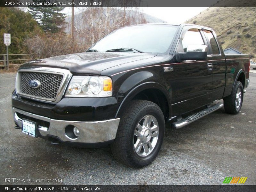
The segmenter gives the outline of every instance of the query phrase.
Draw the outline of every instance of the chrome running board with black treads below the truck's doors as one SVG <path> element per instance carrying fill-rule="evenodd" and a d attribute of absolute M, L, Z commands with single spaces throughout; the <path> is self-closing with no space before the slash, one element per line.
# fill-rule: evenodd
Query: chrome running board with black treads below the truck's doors
<path fill-rule="evenodd" d="M 215 105 L 212 105 L 206 109 L 203 109 L 202 111 L 199 111 L 197 113 L 194 113 L 193 115 L 187 116 L 185 118 L 180 119 L 179 121 L 172 123 L 172 128 L 179 129 L 181 127 L 184 127 L 184 126 L 196 121 L 197 119 L 200 119 L 200 118 L 202 118 L 202 117 L 204 117 L 222 107 L 223 107 L 223 103 L 217 103 Z"/>

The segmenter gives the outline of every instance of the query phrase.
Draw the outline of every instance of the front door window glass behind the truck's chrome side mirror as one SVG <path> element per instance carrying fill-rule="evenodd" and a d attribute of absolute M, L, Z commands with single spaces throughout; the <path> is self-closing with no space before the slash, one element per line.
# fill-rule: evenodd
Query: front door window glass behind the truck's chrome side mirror
<path fill-rule="evenodd" d="M 184 52 L 187 52 L 188 45 L 204 45 L 199 29 L 189 29 L 185 33 L 181 42 Z"/>

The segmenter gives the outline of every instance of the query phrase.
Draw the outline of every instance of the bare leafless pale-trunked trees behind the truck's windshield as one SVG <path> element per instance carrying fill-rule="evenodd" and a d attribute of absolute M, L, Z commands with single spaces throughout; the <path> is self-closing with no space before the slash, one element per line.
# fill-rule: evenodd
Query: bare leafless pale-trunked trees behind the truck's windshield
<path fill-rule="evenodd" d="M 117 28 L 146 23 L 137 8 L 87 7 L 80 10 L 79 16 L 75 22 L 75 38 L 90 45 Z"/>

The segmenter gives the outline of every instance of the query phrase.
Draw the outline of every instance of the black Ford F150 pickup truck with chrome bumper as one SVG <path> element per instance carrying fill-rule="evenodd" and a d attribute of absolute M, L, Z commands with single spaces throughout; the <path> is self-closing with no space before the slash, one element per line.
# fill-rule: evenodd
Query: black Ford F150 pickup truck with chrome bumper
<path fill-rule="evenodd" d="M 12 93 L 15 128 L 53 144 L 110 144 L 118 161 L 140 168 L 157 156 L 165 124 L 178 129 L 223 105 L 237 114 L 249 68 L 248 55 L 224 55 L 211 28 L 120 28 L 84 53 L 22 65 Z"/>

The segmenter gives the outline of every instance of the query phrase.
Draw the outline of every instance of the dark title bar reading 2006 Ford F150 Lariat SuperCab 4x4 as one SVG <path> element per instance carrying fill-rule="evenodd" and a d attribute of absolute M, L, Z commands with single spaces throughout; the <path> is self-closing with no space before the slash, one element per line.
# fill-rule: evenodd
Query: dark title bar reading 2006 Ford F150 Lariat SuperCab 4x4
<path fill-rule="evenodd" d="M 256 0 L 1 0 L 0 7 L 255 7 Z"/>

